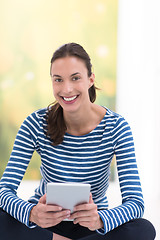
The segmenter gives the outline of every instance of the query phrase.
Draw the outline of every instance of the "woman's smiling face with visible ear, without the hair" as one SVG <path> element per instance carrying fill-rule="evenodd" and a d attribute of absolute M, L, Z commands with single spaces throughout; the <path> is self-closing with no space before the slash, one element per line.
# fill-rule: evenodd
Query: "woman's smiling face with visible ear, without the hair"
<path fill-rule="evenodd" d="M 94 74 L 88 77 L 83 60 L 64 57 L 51 66 L 53 94 L 64 111 L 74 112 L 90 104 L 88 89 L 94 84 Z"/>

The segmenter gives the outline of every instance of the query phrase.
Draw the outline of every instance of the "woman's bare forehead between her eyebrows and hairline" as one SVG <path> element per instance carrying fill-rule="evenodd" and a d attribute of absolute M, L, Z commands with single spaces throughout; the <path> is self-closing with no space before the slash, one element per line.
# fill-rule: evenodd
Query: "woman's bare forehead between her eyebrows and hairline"
<path fill-rule="evenodd" d="M 87 72 L 85 62 L 77 57 L 67 56 L 56 59 L 51 66 L 51 73 Z"/>

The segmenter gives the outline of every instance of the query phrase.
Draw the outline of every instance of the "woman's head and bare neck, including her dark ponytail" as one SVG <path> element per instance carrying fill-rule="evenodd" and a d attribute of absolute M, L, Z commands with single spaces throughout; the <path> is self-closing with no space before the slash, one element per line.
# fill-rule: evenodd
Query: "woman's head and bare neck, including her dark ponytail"
<path fill-rule="evenodd" d="M 55 51 L 51 59 L 50 74 L 53 94 L 57 102 L 48 108 L 47 134 L 53 141 L 52 144 L 58 145 L 63 141 L 66 131 L 75 135 L 90 132 L 102 120 L 105 110 L 99 108 L 100 117 L 98 116 L 98 119 L 96 117 L 96 124 L 91 123 L 87 118 L 87 120 L 81 121 L 81 126 L 78 125 L 78 128 L 74 124 L 75 128 L 73 129 L 73 123 L 71 124 L 67 120 L 71 114 L 74 119 L 74 113 L 77 111 L 81 116 L 87 116 L 86 113 L 90 114 L 90 109 L 94 106 L 92 103 L 96 99 L 95 76 L 92 73 L 91 60 L 79 44 L 65 44 Z M 53 122 L 55 128 L 52 127 Z M 70 125 L 72 128 L 69 127 Z"/>

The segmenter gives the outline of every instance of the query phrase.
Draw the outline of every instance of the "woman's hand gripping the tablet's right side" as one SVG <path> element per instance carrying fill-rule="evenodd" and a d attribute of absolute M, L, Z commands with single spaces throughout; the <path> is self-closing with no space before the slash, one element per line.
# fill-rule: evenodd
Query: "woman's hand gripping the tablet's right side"
<path fill-rule="evenodd" d="M 92 194 L 90 193 L 89 203 L 80 204 L 74 207 L 74 213 L 69 219 L 74 219 L 74 224 L 87 227 L 91 231 L 95 231 L 103 227 L 103 222 L 98 214 L 97 205 L 94 204 Z"/>

